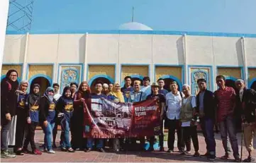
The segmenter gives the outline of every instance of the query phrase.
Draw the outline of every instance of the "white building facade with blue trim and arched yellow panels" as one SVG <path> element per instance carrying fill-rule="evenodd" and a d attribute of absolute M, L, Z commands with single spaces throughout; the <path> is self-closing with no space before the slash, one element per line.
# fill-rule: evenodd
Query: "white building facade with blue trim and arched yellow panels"
<path fill-rule="evenodd" d="M 256 35 L 154 30 L 7 32 L 1 77 L 14 68 L 20 80 L 47 87 L 95 80 L 123 84 L 125 76 L 165 78 L 196 94 L 198 78 L 216 90 L 215 77 L 243 78 L 256 86 Z"/>

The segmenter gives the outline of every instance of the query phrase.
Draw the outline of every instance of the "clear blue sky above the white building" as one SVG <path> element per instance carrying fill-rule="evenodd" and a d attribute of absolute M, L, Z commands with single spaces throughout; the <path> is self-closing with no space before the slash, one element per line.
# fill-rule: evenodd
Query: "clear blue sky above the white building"
<path fill-rule="evenodd" d="M 256 33 L 256 0 L 34 0 L 30 31 L 118 30 L 133 7 L 153 30 Z"/>

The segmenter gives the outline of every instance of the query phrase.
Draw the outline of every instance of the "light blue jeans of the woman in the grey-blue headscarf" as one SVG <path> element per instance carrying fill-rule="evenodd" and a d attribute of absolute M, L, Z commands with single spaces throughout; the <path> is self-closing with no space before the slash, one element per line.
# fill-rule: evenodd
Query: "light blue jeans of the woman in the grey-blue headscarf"
<path fill-rule="evenodd" d="M 45 146 L 47 147 L 48 150 L 52 150 L 52 130 L 55 126 L 55 122 L 49 122 L 48 121 L 48 126 L 45 128 L 43 126 L 43 131 L 45 133 Z"/>

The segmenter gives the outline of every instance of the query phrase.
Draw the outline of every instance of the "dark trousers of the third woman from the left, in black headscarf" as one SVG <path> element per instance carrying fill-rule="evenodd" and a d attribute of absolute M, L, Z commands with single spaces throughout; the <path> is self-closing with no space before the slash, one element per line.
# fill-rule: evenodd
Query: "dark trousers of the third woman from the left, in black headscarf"
<path fill-rule="evenodd" d="M 25 140 L 24 140 L 24 148 L 28 148 L 28 144 L 30 143 L 32 150 L 36 149 L 35 146 L 35 128 L 38 126 L 38 122 L 31 121 L 30 124 L 26 125 L 25 131 Z"/>

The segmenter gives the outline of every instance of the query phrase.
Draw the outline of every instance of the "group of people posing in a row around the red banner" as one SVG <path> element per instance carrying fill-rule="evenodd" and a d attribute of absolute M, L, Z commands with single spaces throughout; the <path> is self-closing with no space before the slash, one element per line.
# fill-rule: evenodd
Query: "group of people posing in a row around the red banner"
<path fill-rule="evenodd" d="M 45 134 L 42 147 L 45 152 L 54 154 L 52 147 L 56 147 L 55 139 L 57 126 L 60 125 L 60 148 L 62 151 L 74 152 L 84 150 L 90 152 L 94 148 L 104 152 L 106 140 L 97 138 L 83 138 L 84 131 L 84 107 L 87 99 L 105 98 L 114 102 L 140 102 L 150 98 L 159 99 L 161 113 L 160 121 L 168 128 L 168 150 L 174 152 L 175 133 L 177 133 L 177 147 L 181 155 L 189 155 L 191 152 L 191 140 L 194 145 L 194 157 L 216 158 L 216 141 L 214 128 L 220 128 L 221 139 L 225 155 L 221 159 L 230 157 L 230 147 L 233 150 L 235 162 L 240 162 L 238 139 L 235 131 L 235 120 L 242 119 L 243 132 L 245 135 L 245 147 L 249 153 L 245 162 L 252 162 L 252 137 L 255 134 L 255 109 L 256 92 L 245 87 L 243 80 L 236 80 L 236 90 L 227 87 L 224 76 L 216 76 L 218 90 L 207 90 L 207 82 L 204 78 L 197 80 L 199 93 L 191 95 L 191 87 L 183 85 L 179 92 L 177 82 L 170 83 L 168 90 L 164 89 L 165 80 L 160 78 L 157 83 L 150 85 L 150 78 L 143 78 L 132 82 L 130 76 L 126 76 L 125 85 L 119 83 L 101 83 L 96 81 L 95 91 L 91 92 L 86 81 L 79 87 L 77 83 L 70 83 L 58 93 L 59 85 L 54 83 L 48 87 L 43 95 L 40 95 L 40 85 L 32 85 L 28 94 L 29 83 L 21 81 L 18 85 L 18 73 L 10 70 L 6 78 L 1 82 L 1 157 L 16 157 L 25 153 L 41 155 L 35 145 L 35 128 L 40 125 Z M 142 84 L 142 85 L 141 85 Z M 133 85 L 133 86 L 132 86 Z M 78 88 L 78 89 L 77 89 Z M 201 126 L 206 141 L 207 152 L 199 153 L 199 140 L 197 125 Z M 69 141 L 69 132 L 71 141 Z M 13 133 L 15 136 L 11 136 Z M 147 136 L 147 135 L 145 135 Z M 53 137 L 53 143 L 52 143 Z M 154 150 L 155 136 L 147 137 L 150 141 L 148 151 Z M 14 152 L 9 152 L 8 145 L 13 139 Z M 140 140 L 139 149 L 145 150 L 145 137 L 141 138 L 114 138 L 108 140 L 111 149 L 135 150 L 137 140 Z M 159 135 L 160 152 L 164 152 L 164 133 Z M 28 150 L 30 143 L 32 151 Z M 137 148 L 138 149 L 138 148 Z"/>

